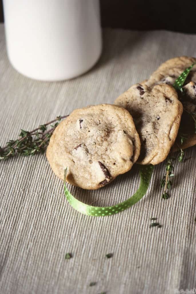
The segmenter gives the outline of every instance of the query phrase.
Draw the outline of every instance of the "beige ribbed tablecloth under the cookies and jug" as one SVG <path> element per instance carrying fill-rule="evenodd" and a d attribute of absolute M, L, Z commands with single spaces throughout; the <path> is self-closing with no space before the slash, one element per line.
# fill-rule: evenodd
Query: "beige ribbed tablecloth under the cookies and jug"
<path fill-rule="evenodd" d="M 196 35 L 167 31 L 103 31 L 103 54 L 88 73 L 39 82 L 16 72 L 0 26 L 0 144 L 89 104 L 113 103 L 161 62 L 196 56 Z M 175 293 L 196 288 L 196 146 L 175 164 L 171 198 L 162 200 L 164 164 L 154 168 L 146 196 L 109 217 L 75 211 L 45 155 L 0 162 L 0 293 Z M 68 185 L 94 205 L 123 201 L 137 190 L 137 168 L 98 191 Z M 161 228 L 149 225 L 156 217 Z M 70 260 L 65 254 L 73 255 Z M 107 259 L 105 254 L 113 253 Z M 90 287 L 89 283 L 97 282 Z"/>

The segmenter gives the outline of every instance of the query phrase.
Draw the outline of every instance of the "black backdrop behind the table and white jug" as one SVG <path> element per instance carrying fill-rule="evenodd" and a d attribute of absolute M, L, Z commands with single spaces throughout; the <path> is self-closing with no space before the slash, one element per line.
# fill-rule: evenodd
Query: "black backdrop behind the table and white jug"
<path fill-rule="evenodd" d="M 196 33 L 196 0 L 100 0 L 100 6 L 103 27 Z M 0 22 L 3 22 L 2 0 Z"/>

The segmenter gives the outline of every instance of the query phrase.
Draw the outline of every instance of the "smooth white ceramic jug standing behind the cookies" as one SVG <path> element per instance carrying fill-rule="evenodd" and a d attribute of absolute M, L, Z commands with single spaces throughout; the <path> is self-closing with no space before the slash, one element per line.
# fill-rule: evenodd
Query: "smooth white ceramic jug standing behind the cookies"
<path fill-rule="evenodd" d="M 60 81 L 98 60 L 99 0 L 4 0 L 3 6 L 8 58 L 21 74 Z"/>

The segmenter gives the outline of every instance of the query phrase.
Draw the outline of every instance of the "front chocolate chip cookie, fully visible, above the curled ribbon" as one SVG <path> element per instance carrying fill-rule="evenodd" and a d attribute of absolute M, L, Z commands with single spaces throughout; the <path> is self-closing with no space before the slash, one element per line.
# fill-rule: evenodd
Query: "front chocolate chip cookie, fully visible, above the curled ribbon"
<path fill-rule="evenodd" d="M 59 123 L 46 156 L 54 173 L 83 189 L 98 189 L 132 168 L 140 140 L 132 116 L 119 106 L 101 104 L 74 110 Z"/>

